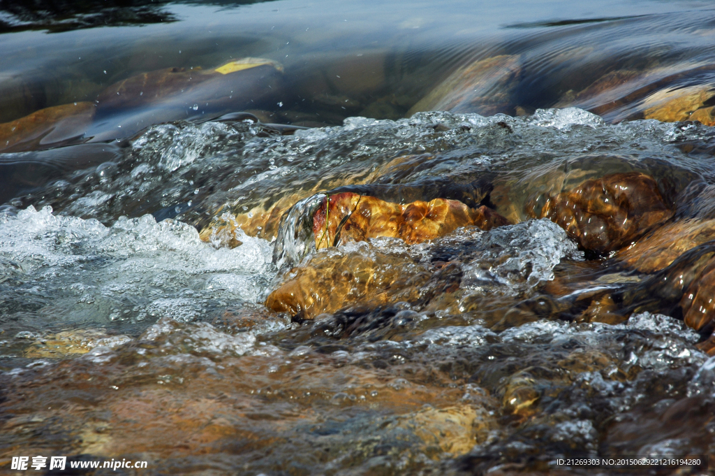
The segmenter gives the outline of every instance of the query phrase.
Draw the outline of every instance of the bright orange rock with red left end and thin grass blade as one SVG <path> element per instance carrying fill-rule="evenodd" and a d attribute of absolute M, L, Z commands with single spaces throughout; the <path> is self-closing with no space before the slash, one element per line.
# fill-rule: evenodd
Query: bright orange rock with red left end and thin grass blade
<path fill-rule="evenodd" d="M 325 198 L 313 215 L 317 249 L 378 237 L 421 243 L 461 226 L 476 225 L 489 230 L 507 224 L 506 218 L 484 205 L 473 209 L 443 198 L 401 205 L 350 192 Z"/>

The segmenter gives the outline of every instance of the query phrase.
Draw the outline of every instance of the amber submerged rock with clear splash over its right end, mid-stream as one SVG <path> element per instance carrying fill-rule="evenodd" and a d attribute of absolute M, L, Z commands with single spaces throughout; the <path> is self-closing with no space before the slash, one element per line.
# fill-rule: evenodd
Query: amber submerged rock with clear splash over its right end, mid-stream
<path fill-rule="evenodd" d="M 495 298 L 501 308 L 494 313 L 495 321 L 511 306 L 518 309 L 509 319 L 521 313 L 535 320 L 546 313 L 543 300 L 518 301 L 551 281 L 553 267 L 563 258 L 581 257 L 575 243 L 548 220 L 488 233 L 475 226 L 458 228 L 411 247 L 394 238 L 371 239 L 318 251 L 277 281 L 266 306 L 301 319 L 348 306 L 369 312 L 398 302 L 417 310 L 461 314 L 482 310 L 488 307 L 484 301 Z M 530 309 L 532 304 L 537 309 Z"/>

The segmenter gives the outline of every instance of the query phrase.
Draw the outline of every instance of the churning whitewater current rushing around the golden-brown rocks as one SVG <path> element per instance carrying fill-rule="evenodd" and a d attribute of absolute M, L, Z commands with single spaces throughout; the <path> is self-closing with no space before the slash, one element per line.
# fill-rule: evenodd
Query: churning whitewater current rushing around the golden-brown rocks
<path fill-rule="evenodd" d="M 567 454 L 712 453 L 705 417 L 662 430 L 674 421 L 667 411 L 676 402 L 709 409 L 715 398 L 713 358 L 695 347 L 699 334 L 682 321 L 641 312 L 622 324 L 495 326 L 479 314 L 480 299 L 538 301 L 559 269 L 589 266 L 591 258 L 550 220 L 517 210 L 520 223 L 488 231 L 320 251 L 298 233 L 300 217 L 277 230 L 254 223 L 207 241 L 199 232 L 222 214 L 253 223 L 253 214 L 280 200 L 298 217 L 305 210 L 293 204 L 347 185 L 381 185 L 407 201 L 437 179 L 489 175 L 509 185 L 511 195 L 492 199 L 504 208 L 556 175 L 568 184 L 647 171 L 676 188 L 696 175 L 711 183 L 713 135 L 693 123 L 608 125 L 577 109 L 353 117 L 293 135 L 248 120 L 151 127 L 116 161 L 69 173 L 1 211 L 2 395 L 15 419 L 49 407 L 36 423 L 12 420 L 4 438 L 34 447 L 21 428 L 44 435 L 59 431 L 52 418 L 77 418 L 46 448 L 141 454 L 162 470 L 192 474 L 461 474 L 515 460 L 548 465 Z M 406 156 L 422 158 L 388 167 Z M 231 240 L 240 246 L 227 246 Z M 455 250 L 467 258 L 454 303 L 394 301 L 365 311 L 363 321 L 341 309 L 311 324 L 263 305 L 287 272 L 277 246 L 292 266 L 358 256 L 377 273 L 403 266 L 404 276 L 422 276 Z M 593 271 L 568 296 L 642 278 L 618 273 Z M 84 350 L 62 350 L 67 342 Z M 77 407 L 53 407 L 73 388 L 84 392 Z M 59 393 L 47 397 L 50 389 Z M 136 418 L 128 416 L 134 401 Z M 157 442 L 163 423 L 154 427 L 149 415 L 163 421 L 168 414 L 197 435 L 182 443 L 188 456 Z M 103 418 L 109 423 L 100 432 Z M 212 429 L 196 423 L 202 419 Z M 651 431 L 632 437 L 628 422 Z M 144 449 L 133 446 L 132 434 Z"/>

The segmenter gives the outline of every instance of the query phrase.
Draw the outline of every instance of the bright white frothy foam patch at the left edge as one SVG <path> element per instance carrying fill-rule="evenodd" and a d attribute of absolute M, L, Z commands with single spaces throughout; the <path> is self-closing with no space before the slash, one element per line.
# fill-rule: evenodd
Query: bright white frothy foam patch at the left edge
<path fill-rule="evenodd" d="M 212 302 L 257 302 L 275 274 L 270 243 L 216 249 L 197 230 L 152 215 L 97 220 L 27 208 L 0 221 L 0 263 L 19 266 L 52 304 L 87 319 L 193 321 Z M 15 263 L 13 265 L 12 263 Z M 19 271 L 18 271 L 19 272 Z M 9 271 L 4 274 L 9 274 Z"/>

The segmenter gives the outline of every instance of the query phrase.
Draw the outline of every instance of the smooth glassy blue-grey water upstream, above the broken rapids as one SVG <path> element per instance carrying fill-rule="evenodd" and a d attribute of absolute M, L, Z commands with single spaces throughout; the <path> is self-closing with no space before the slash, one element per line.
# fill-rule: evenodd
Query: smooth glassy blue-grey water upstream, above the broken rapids
<path fill-rule="evenodd" d="M 696 117 L 711 122 L 711 11 L 698 6 L 604 5 L 603 11 L 623 15 L 603 18 L 578 6 L 558 11 L 550 4 L 530 9 L 518 2 L 503 7 L 453 2 L 447 9 L 440 6 L 439 14 L 429 4 L 413 4 L 408 14 L 396 4 L 362 9 L 298 1 L 240 8 L 170 4 L 160 8 L 178 20 L 173 23 L 5 34 L 0 120 L 94 103 L 97 117 L 83 112 L 86 121 L 65 125 L 55 137 L 45 137 L 44 146 L 129 137 L 153 123 L 237 110 L 253 110 L 269 122 L 306 125 L 339 125 L 355 115 L 398 119 L 435 108 L 514 115 L 553 106 L 581 107 L 609 122 L 685 120 L 701 109 Z M 665 13 L 673 9 L 678 13 Z M 573 16 L 546 21 L 567 14 Z M 545 21 L 534 22 L 535 16 Z M 45 49 L 53 54 L 41 54 Z M 199 67 L 207 72 L 245 57 L 277 62 L 285 74 L 269 82 L 261 81 L 261 74 L 227 75 L 208 91 L 164 78 Z M 125 81 L 142 82 L 146 90 L 136 94 L 171 92 L 177 110 L 168 114 L 158 103 L 134 110 L 135 91 L 122 90 Z M 687 104 L 669 102 L 678 97 Z M 207 98 L 223 100 L 211 104 Z M 133 112 L 127 114 L 127 108 Z M 39 121 L 54 123 L 77 113 L 77 106 L 70 109 Z M 0 127 L 3 148 L 11 147 L 10 132 Z"/>

